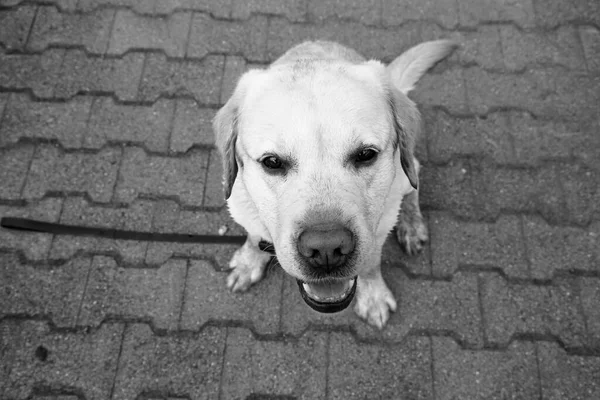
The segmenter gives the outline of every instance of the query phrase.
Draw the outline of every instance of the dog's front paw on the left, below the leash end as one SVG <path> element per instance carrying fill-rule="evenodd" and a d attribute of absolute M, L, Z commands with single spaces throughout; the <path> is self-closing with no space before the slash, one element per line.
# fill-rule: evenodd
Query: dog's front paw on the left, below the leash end
<path fill-rule="evenodd" d="M 243 292 L 262 279 L 271 255 L 260 250 L 260 237 L 248 235 L 246 243 L 231 258 L 232 271 L 227 277 L 227 287 L 233 292 Z"/>

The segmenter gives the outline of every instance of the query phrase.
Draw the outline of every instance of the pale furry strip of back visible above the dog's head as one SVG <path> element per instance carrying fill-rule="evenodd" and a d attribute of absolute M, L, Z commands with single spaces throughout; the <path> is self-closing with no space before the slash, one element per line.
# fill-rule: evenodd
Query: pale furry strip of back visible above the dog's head
<path fill-rule="evenodd" d="M 337 61 L 358 64 L 366 59 L 349 47 L 325 40 L 300 43 L 279 57 L 272 65 L 296 63 L 301 60 Z"/>

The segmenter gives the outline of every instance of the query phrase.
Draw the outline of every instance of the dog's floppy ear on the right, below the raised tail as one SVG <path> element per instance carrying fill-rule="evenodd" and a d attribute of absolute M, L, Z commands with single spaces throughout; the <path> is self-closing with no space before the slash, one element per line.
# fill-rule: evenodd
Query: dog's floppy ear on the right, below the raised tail
<path fill-rule="evenodd" d="M 421 131 L 421 116 L 415 103 L 400 91 L 392 88 L 388 94 L 400 164 L 408 181 L 415 189 L 419 187 L 419 171 L 415 166 L 415 141 Z"/>

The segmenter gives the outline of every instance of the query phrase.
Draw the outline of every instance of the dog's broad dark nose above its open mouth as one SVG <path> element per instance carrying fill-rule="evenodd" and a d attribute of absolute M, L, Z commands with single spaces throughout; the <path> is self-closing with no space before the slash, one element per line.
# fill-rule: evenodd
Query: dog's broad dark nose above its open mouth
<path fill-rule="evenodd" d="M 298 238 L 298 252 L 311 265 L 332 269 L 342 265 L 354 250 L 354 236 L 343 226 L 314 226 Z"/>

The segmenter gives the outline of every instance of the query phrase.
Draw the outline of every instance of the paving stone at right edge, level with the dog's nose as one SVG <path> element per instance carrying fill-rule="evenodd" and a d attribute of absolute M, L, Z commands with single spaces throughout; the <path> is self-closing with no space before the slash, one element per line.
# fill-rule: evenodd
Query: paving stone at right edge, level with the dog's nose
<path fill-rule="evenodd" d="M 558 271 L 600 272 L 600 224 L 587 229 L 552 226 L 539 217 L 523 221 L 532 278 L 552 279 Z"/>

